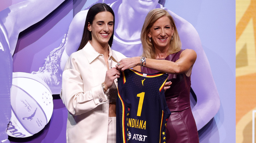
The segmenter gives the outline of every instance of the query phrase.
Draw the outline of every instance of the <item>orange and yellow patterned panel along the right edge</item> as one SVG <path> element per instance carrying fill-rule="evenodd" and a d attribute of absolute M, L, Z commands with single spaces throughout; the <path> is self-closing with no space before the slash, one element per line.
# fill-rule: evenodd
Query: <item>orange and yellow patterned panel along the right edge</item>
<path fill-rule="evenodd" d="M 256 1 L 236 0 L 236 142 L 255 143 Z"/>

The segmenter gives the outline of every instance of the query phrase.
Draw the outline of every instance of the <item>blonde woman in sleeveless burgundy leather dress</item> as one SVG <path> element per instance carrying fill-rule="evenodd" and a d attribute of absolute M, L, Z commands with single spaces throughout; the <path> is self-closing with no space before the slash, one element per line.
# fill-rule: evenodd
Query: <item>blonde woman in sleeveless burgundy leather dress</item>
<path fill-rule="evenodd" d="M 168 11 L 157 8 L 145 18 L 141 31 L 143 54 L 125 58 L 116 67 L 134 67 L 143 73 L 166 72 L 165 97 L 172 112 L 167 122 L 167 143 L 198 143 L 198 132 L 190 107 L 190 77 L 196 52 L 181 49 L 176 25 Z"/>

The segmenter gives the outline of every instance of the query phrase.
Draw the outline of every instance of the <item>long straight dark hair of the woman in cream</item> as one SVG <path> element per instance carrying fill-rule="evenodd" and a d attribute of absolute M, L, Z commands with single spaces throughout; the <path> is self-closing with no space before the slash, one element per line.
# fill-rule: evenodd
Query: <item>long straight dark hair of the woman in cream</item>
<path fill-rule="evenodd" d="M 88 23 L 92 24 L 95 15 L 98 14 L 99 12 L 103 12 L 103 11 L 108 11 L 108 12 L 112 13 L 112 15 L 114 17 L 113 34 L 112 34 L 112 36 L 110 37 L 110 39 L 108 41 L 108 44 L 110 46 L 112 45 L 113 37 L 114 37 L 114 28 L 115 28 L 114 27 L 115 26 L 115 14 L 114 14 L 114 11 L 112 10 L 112 8 L 110 6 L 108 6 L 105 3 L 97 3 L 97 4 L 93 5 L 88 10 L 88 13 L 87 13 L 87 16 L 86 16 L 86 20 L 85 20 L 85 24 L 84 24 L 84 32 L 83 32 L 82 40 L 80 42 L 80 45 L 79 45 L 77 51 L 83 49 L 83 47 L 87 44 L 87 42 L 89 40 L 92 40 L 92 33 L 87 29 Z"/>

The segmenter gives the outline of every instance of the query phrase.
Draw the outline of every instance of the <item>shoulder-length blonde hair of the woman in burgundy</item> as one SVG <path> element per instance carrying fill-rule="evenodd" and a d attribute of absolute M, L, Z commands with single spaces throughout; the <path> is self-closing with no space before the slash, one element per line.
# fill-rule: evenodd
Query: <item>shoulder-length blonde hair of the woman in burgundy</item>
<path fill-rule="evenodd" d="M 173 40 L 170 41 L 170 46 L 167 55 L 177 53 L 181 50 L 181 40 L 174 19 L 172 18 L 168 11 L 161 8 L 156 8 L 151 10 L 147 14 L 141 30 L 140 40 L 143 47 L 142 56 L 152 59 L 156 58 L 155 47 L 153 42 L 149 41 L 148 33 L 150 32 L 150 28 L 153 26 L 153 24 L 163 16 L 167 16 L 171 21 L 171 28 L 174 27 Z"/>

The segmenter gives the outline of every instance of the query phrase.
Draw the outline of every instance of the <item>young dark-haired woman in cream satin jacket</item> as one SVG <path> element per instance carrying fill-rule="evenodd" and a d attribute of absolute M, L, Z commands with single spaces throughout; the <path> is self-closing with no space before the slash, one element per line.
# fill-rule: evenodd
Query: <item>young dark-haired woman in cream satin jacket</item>
<path fill-rule="evenodd" d="M 87 14 L 78 51 L 62 74 L 60 97 L 69 111 L 67 142 L 115 143 L 117 78 L 115 67 L 125 58 L 111 50 L 115 15 L 104 3 Z"/>

